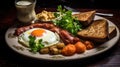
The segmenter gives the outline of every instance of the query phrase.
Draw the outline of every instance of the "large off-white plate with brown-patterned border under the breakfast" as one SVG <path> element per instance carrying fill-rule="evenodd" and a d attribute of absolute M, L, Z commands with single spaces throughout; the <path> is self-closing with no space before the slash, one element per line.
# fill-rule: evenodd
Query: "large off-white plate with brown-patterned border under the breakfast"
<path fill-rule="evenodd" d="M 105 19 L 103 17 L 100 16 L 95 16 L 95 20 L 96 19 Z M 22 46 L 21 44 L 18 43 L 18 38 L 17 37 L 9 37 L 9 35 L 13 34 L 15 31 L 15 27 L 10 27 L 5 34 L 5 39 L 6 42 L 8 44 L 8 46 L 13 49 L 14 51 L 16 51 L 19 54 L 31 57 L 31 58 L 36 58 L 36 59 L 44 59 L 44 60 L 72 60 L 72 59 L 81 59 L 81 58 L 87 58 L 90 56 L 94 56 L 97 54 L 100 54 L 102 52 L 107 51 L 108 49 L 110 49 L 111 47 L 113 47 L 116 42 L 119 40 L 119 29 L 117 28 L 117 26 L 115 24 L 113 24 L 111 21 L 107 20 L 109 23 L 109 26 L 115 26 L 116 30 L 117 30 L 117 34 L 115 37 L 113 37 L 111 40 L 101 44 L 99 47 L 96 47 L 94 49 L 91 50 L 87 50 L 86 52 L 82 53 L 82 54 L 75 54 L 73 56 L 63 56 L 63 55 L 49 55 L 49 54 L 33 54 L 31 52 L 28 51 L 28 49 L 24 46 Z M 16 48 L 16 46 L 20 46 L 20 48 Z M 22 47 L 22 48 L 21 48 Z"/>

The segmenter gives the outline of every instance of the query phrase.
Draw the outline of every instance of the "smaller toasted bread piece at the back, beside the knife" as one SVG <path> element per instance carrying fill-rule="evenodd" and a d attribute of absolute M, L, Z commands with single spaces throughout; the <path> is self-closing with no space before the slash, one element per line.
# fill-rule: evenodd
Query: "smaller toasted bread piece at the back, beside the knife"
<path fill-rule="evenodd" d="M 83 24 L 83 26 L 88 26 L 94 19 L 96 11 L 87 11 L 87 12 L 80 12 L 79 14 L 73 14 L 74 17 Z"/>

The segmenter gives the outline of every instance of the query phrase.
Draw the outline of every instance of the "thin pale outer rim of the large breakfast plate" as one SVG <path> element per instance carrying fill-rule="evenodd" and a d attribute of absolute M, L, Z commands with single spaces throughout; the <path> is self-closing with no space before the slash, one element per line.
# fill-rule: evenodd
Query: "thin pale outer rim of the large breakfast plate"
<path fill-rule="evenodd" d="M 97 15 L 95 15 L 95 17 L 99 17 L 99 18 L 106 19 L 106 18 L 104 18 L 104 17 L 97 16 Z M 51 59 L 48 59 L 48 58 L 39 58 L 39 57 L 29 56 L 29 55 L 26 55 L 26 54 L 24 54 L 24 53 L 20 53 L 18 50 L 15 50 L 13 47 L 11 47 L 10 44 L 7 42 L 8 30 L 9 30 L 11 27 L 8 28 L 8 30 L 7 30 L 6 33 L 5 33 L 5 41 L 6 41 L 7 45 L 8 45 L 13 51 L 15 51 L 16 53 L 19 53 L 19 54 L 21 54 L 21 55 L 30 57 L 30 58 L 35 58 L 35 59 L 39 59 L 39 60 L 50 60 L 50 61 L 61 61 L 61 60 L 63 61 L 63 60 L 83 59 L 83 58 L 87 58 L 87 57 L 91 57 L 91 56 L 95 56 L 95 55 L 101 54 L 101 53 L 109 50 L 110 48 L 112 48 L 112 47 L 118 42 L 119 37 L 120 37 L 120 32 L 119 32 L 118 27 L 117 27 L 113 22 L 111 22 L 110 20 L 108 20 L 108 19 L 106 19 L 106 20 L 108 21 L 108 23 L 112 23 L 112 24 L 116 27 L 117 33 L 116 33 L 116 36 L 115 36 L 115 37 L 117 38 L 117 40 L 116 40 L 116 41 L 114 42 L 114 44 L 111 45 L 110 47 L 108 47 L 108 48 L 106 48 L 106 49 L 104 49 L 104 50 L 102 50 L 102 51 L 99 51 L 99 52 L 97 52 L 97 53 L 89 54 L 89 55 L 84 56 L 84 57 L 76 57 L 76 58 L 68 58 L 68 59 L 67 59 L 67 58 L 58 58 L 58 59 L 53 59 L 53 58 L 51 58 Z M 107 41 L 107 42 L 108 42 L 108 41 Z M 103 45 L 103 44 L 102 44 L 102 45 Z M 59 56 L 59 55 L 57 55 L 57 56 Z M 65 56 L 65 57 L 71 57 L 71 56 Z"/>

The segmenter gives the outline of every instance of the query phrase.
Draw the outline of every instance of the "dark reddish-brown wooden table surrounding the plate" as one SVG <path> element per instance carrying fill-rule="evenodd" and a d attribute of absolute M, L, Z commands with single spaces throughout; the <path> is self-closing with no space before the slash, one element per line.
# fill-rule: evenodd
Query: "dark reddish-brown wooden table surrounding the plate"
<path fill-rule="evenodd" d="M 40 12 L 45 8 L 37 8 L 36 12 Z M 76 8 L 79 11 L 89 11 L 96 10 L 97 12 L 102 13 L 113 13 L 113 17 L 105 17 L 108 20 L 112 21 L 120 29 L 120 10 L 117 9 L 80 9 Z M 48 11 L 56 11 L 55 8 L 46 8 Z M 43 66 L 43 65 L 53 65 L 55 66 L 64 66 L 64 65 L 78 65 L 80 67 L 120 67 L 120 40 L 108 51 L 103 52 L 102 54 L 92 56 L 85 59 L 71 60 L 71 61 L 44 61 L 29 58 L 23 55 L 20 55 L 13 50 L 11 50 L 5 42 L 5 32 L 6 30 L 14 24 L 16 20 L 16 10 L 10 9 L 7 11 L 0 12 L 0 67 L 22 67 L 22 66 Z"/>

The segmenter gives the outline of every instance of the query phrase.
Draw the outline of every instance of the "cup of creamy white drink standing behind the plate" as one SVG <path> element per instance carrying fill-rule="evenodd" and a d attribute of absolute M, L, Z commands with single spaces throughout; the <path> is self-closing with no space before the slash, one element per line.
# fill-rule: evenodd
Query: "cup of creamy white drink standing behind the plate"
<path fill-rule="evenodd" d="M 23 23 L 29 23 L 36 19 L 36 0 L 15 0 L 17 19 Z"/>

